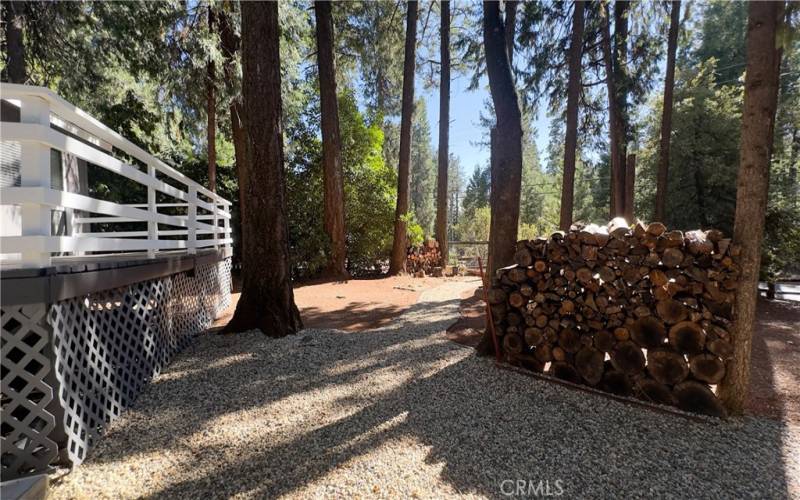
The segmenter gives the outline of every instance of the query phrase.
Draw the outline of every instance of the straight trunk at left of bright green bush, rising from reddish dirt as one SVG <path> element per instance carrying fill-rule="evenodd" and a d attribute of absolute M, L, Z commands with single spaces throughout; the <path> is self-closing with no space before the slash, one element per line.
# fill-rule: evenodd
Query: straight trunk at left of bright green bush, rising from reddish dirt
<path fill-rule="evenodd" d="M 339 136 L 339 105 L 336 101 L 336 61 L 333 53 L 331 2 L 314 2 L 317 21 L 317 66 L 322 114 L 322 166 L 325 191 L 325 233 L 330 239 L 326 275 L 350 277 L 345 267 L 347 247 L 344 230 L 344 177 L 342 140 Z"/>

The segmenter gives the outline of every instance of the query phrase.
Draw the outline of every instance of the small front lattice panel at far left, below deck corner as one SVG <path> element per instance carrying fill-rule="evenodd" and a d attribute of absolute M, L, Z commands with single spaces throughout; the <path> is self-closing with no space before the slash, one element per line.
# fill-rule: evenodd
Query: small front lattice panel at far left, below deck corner
<path fill-rule="evenodd" d="M 49 437 L 56 419 L 48 411 L 53 389 L 45 380 L 52 366 L 45 315 L 44 304 L 0 310 L 3 480 L 44 470 L 58 454 Z"/>

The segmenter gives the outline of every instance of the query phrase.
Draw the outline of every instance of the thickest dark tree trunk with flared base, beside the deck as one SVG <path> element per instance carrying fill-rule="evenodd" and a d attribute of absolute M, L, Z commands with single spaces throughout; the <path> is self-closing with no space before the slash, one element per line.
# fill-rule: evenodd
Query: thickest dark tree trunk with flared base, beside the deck
<path fill-rule="evenodd" d="M 254 328 L 279 337 L 303 325 L 289 264 L 281 130 L 278 4 L 242 2 L 242 96 L 248 183 L 242 204 L 249 236 L 242 251 L 242 295 L 224 332 Z"/>

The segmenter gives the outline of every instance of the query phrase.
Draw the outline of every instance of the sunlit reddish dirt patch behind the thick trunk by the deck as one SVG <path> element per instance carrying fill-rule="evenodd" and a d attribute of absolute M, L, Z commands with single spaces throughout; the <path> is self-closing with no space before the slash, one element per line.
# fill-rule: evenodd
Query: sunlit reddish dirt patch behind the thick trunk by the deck
<path fill-rule="evenodd" d="M 343 282 L 299 283 L 294 298 L 306 328 L 335 328 L 359 331 L 386 325 L 416 304 L 420 294 L 448 278 L 393 276 L 353 279 Z M 234 282 L 231 306 L 214 327 L 230 321 L 239 300 L 238 280 Z"/>

